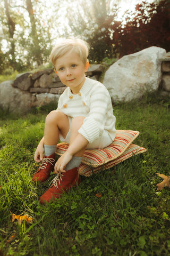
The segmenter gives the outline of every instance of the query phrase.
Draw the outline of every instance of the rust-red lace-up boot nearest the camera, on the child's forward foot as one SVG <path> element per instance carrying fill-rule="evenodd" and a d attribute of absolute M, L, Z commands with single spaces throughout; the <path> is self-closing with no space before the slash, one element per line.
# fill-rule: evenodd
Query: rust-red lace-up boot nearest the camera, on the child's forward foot
<path fill-rule="evenodd" d="M 41 204 L 45 204 L 62 196 L 63 191 L 76 187 L 81 182 L 78 167 L 74 167 L 64 173 L 58 173 L 53 179 L 50 188 L 39 198 Z"/>

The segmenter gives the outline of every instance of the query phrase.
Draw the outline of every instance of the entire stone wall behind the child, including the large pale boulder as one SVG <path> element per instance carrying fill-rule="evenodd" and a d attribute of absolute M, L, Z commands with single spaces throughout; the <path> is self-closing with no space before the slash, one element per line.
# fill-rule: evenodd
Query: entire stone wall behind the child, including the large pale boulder
<path fill-rule="evenodd" d="M 90 65 L 87 77 L 99 80 L 102 65 Z M 162 81 L 162 82 L 160 82 Z M 170 53 L 151 46 L 140 52 L 126 55 L 106 71 L 104 85 L 113 103 L 139 99 L 147 91 L 156 91 L 162 84 L 162 95 L 170 97 Z M 65 90 L 53 69 L 24 73 L 14 81 L 0 84 L 0 108 L 10 113 L 25 114 L 32 107 L 57 102 Z"/>

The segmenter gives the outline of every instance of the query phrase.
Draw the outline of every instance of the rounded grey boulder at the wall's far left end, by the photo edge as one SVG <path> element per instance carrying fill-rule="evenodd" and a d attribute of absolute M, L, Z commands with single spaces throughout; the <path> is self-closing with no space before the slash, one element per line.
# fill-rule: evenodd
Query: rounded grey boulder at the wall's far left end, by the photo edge
<path fill-rule="evenodd" d="M 0 107 L 10 113 L 27 113 L 36 100 L 29 92 L 21 91 L 13 87 L 13 81 L 5 81 L 0 84 Z"/>

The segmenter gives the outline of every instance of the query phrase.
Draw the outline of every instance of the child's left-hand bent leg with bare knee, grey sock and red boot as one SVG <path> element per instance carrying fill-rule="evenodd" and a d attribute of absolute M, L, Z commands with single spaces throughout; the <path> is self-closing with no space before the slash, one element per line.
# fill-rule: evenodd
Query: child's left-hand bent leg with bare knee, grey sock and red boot
<path fill-rule="evenodd" d="M 59 133 L 65 138 L 69 131 L 69 126 L 69 118 L 60 111 L 54 110 L 46 117 L 44 132 L 45 157 L 37 172 L 33 175 L 33 181 L 44 182 L 49 178 L 50 172 L 54 170 L 55 151 Z"/>

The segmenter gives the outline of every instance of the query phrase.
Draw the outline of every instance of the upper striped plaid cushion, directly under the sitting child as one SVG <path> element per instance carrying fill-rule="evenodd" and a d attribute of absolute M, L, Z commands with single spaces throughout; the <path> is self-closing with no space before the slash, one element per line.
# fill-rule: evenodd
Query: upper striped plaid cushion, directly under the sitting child
<path fill-rule="evenodd" d="M 92 167 L 98 167 L 121 156 L 139 135 L 138 131 L 117 130 L 114 141 L 103 149 L 87 149 L 84 152 L 81 163 Z M 63 155 L 68 148 L 67 143 L 57 144 L 57 155 Z"/>

